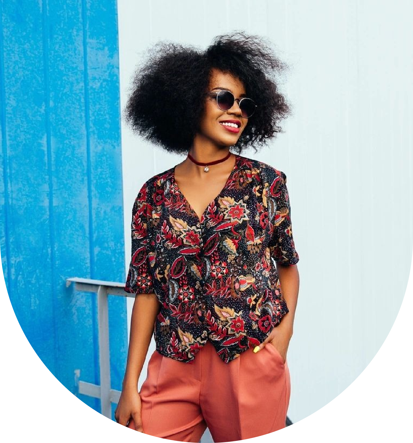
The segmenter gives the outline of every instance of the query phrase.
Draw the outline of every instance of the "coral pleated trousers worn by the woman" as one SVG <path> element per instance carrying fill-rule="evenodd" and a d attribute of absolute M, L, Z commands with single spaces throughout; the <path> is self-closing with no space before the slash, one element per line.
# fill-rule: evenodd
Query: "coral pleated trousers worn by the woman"
<path fill-rule="evenodd" d="M 285 427 L 290 374 L 271 343 L 225 363 L 208 341 L 188 363 L 155 350 L 140 398 L 144 434 L 197 443 L 208 427 L 215 443 L 233 442 Z"/>

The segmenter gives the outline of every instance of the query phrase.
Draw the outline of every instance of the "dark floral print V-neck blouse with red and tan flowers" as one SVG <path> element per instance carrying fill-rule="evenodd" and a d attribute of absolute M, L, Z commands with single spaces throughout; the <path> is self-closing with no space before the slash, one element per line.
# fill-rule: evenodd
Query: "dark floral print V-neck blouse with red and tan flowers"
<path fill-rule="evenodd" d="M 133 205 L 125 291 L 155 293 L 156 350 L 178 361 L 191 362 L 210 340 L 229 363 L 288 312 L 273 262 L 299 260 L 286 176 L 234 155 L 233 171 L 201 219 L 179 190 L 175 167 L 148 179 Z"/>

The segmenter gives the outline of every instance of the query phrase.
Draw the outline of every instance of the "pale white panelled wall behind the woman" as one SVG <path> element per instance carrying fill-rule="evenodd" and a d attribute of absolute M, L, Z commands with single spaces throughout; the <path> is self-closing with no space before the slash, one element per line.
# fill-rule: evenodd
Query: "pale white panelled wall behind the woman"
<path fill-rule="evenodd" d="M 204 49 L 215 35 L 244 30 L 269 38 L 291 67 L 281 86 L 294 108 L 285 133 L 242 155 L 288 177 L 301 277 L 288 350 L 288 416 L 296 423 L 362 373 L 405 294 L 413 245 L 412 4 L 118 0 L 118 12 L 122 109 L 140 52 L 159 40 Z M 184 157 L 152 147 L 124 123 L 122 155 L 128 266 L 137 191 Z M 140 383 L 144 377 L 146 369 Z"/>

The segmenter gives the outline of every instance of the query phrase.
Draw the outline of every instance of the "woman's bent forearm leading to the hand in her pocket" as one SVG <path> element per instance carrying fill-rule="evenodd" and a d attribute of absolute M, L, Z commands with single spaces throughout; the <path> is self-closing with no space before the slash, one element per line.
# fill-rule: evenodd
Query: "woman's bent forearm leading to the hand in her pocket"
<path fill-rule="evenodd" d="M 296 313 L 298 291 L 300 288 L 300 276 L 297 265 L 285 266 L 277 263 L 277 273 L 280 279 L 282 295 L 287 303 L 288 313 L 282 318 L 281 329 L 293 330 L 294 316 Z"/>

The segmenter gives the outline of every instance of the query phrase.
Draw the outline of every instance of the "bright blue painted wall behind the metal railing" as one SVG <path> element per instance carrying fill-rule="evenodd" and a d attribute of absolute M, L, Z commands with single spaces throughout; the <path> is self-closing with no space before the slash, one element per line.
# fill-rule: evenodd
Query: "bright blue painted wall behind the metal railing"
<path fill-rule="evenodd" d="M 97 302 L 66 278 L 125 281 L 116 0 L 0 3 L 4 280 L 31 346 L 78 395 L 99 382 Z M 127 353 L 109 298 L 112 388 Z M 79 398 L 100 412 L 100 401 Z M 114 408 L 113 408 L 114 409 Z"/>

